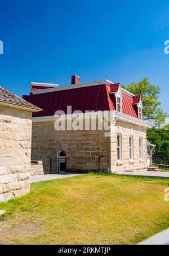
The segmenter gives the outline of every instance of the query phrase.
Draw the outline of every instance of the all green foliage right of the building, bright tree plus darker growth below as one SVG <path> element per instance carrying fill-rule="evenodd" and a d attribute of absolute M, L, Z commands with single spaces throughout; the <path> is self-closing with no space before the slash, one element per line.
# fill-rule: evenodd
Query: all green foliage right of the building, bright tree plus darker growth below
<path fill-rule="evenodd" d="M 134 95 L 140 95 L 143 102 L 143 116 L 145 120 L 152 123 L 148 129 L 148 140 L 155 144 L 155 155 L 169 156 L 169 125 L 165 125 L 167 113 L 164 113 L 159 101 L 159 86 L 152 85 L 148 78 L 139 83 L 131 83 L 127 87 L 122 86 Z"/>

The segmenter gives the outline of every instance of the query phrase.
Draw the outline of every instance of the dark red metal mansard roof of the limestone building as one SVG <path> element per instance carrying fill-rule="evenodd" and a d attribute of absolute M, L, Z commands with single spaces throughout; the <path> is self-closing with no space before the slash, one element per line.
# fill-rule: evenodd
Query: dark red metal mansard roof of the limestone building
<path fill-rule="evenodd" d="M 111 99 L 112 89 L 118 91 L 120 84 L 108 86 L 106 84 L 64 89 L 54 92 L 40 94 L 30 93 L 30 96 L 23 96 L 24 99 L 43 109 L 41 112 L 34 113 L 34 117 L 54 116 L 57 110 L 67 113 L 67 106 L 72 106 L 75 110 L 85 111 L 104 111 L 115 110 L 115 104 Z M 137 117 L 134 107 L 134 97 L 122 93 L 122 113 L 132 117 Z"/>

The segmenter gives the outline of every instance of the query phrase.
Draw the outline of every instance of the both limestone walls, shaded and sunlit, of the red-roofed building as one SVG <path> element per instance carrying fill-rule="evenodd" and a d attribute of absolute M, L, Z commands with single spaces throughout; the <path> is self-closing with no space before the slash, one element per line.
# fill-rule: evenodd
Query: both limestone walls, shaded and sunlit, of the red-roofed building
<path fill-rule="evenodd" d="M 117 134 L 122 134 L 122 163 L 117 161 Z M 55 131 L 54 122 L 33 123 L 32 160 L 42 160 L 45 174 L 56 170 L 57 151 L 66 153 L 68 171 L 96 171 L 100 157 L 100 170 L 117 172 L 118 170 L 145 170 L 146 165 L 146 131 L 130 123 L 116 123 L 110 138 L 104 131 Z M 130 162 L 129 136 L 134 136 L 134 160 Z M 139 137 L 143 137 L 144 157 L 139 157 Z"/>

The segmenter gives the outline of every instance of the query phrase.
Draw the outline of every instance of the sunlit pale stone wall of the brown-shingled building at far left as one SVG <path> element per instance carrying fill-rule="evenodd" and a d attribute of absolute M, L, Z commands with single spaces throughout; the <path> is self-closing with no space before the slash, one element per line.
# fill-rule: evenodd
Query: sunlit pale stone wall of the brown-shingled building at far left
<path fill-rule="evenodd" d="M 0 201 L 30 191 L 32 113 L 0 107 Z"/>

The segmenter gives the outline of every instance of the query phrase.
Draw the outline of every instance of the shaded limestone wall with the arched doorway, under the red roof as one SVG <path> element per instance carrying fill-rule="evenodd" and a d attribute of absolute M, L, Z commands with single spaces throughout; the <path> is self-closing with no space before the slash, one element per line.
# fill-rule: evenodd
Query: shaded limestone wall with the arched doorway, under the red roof
<path fill-rule="evenodd" d="M 106 138 L 104 131 L 56 131 L 54 122 L 33 123 L 32 160 L 43 161 L 45 174 L 56 171 L 57 151 L 66 152 L 68 171 L 97 170 L 98 157 L 101 168 L 106 169 Z"/>

